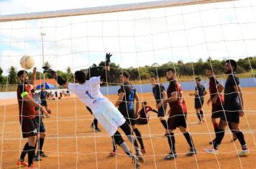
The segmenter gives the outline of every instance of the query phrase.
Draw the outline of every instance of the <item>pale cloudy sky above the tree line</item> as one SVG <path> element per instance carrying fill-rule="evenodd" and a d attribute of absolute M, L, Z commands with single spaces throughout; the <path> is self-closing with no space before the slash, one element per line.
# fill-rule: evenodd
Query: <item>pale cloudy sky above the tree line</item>
<path fill-rule="evenodd" d="M 0 0 L 0 15 L 134 2 L 142 0 Z M 23 55 L 42 67 L 42 42 L 45 61 L 58 70 L 99 64 L 106 52 L 121 67 L 209 57 L 239 59 L 256 56 L 255 30 L 254 0 L 0 22 L 0 67 L 5 74 L 11 66 L 22 69 Z"/>

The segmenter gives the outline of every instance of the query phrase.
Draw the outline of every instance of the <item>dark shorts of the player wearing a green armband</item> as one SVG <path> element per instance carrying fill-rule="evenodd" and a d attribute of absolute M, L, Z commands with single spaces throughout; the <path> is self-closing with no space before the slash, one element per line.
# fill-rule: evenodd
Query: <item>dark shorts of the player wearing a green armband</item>
<path fill-rule="evenodd" d="M 20 123 L 22 125 L 22 136 L 24 138 L 37 135 L 37 122 L 35 122 L 35 119 L 23 119 Z"/>

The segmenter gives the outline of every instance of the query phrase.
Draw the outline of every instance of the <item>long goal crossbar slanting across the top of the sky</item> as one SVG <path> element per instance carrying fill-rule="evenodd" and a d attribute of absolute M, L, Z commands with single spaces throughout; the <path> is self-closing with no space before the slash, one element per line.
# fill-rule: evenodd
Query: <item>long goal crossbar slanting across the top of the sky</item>
<path fill-rule="evenodd" d="M 91 8 L 81 9 L 67 9 L 58 11 L 42 11 L 33 12 L 26 14 L 11 14 L 11 15 L 0 15 L 0 22 L 5 21 L 22 21 L 30 19 L 47 19 L 65 16 L 79 16 L 79 15 L 90 15 L 90 14 L 103 14 L 118 11 L 134 11 L 142 9 L 157 9 L 163 7 L 172 6 L 186 6 L 194 4 L 208 4 L 222 1 L 237 1 L 237 0 L 162 0 L 162 1 L 148 1 L 134 4 L 119 4 L 112 6 L 96 6 Z"/>

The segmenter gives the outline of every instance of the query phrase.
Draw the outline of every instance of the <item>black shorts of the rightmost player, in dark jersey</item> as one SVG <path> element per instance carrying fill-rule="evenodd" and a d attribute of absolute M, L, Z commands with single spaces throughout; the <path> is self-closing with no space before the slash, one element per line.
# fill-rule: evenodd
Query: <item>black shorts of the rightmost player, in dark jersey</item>
<path fill-rule="evenodd" d="M 233 105 L 230 107 L 227 107 L 224 105 L 224 112 L 221 113 L 221 120 L 227 121 L 227 122 L 235 122 L 239 123 L 239 106 Z"/>

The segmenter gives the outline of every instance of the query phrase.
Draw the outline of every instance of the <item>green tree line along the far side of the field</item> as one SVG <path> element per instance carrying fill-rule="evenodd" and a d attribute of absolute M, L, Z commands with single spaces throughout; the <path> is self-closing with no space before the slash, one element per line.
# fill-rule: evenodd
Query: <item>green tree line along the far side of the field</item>
<path fill-rule="evenodd" d="M 111 72 L 110 72 L 110 79 L 109 82 L 118 83 L 119 80 L 119 73 L 122 71 L 127 71 L 130 74 L 131 80 L 143 80 L 148 79 L 152 75 L 156 75 L 157 77 L 165 77 L 165 72 L 168 68 L 175 68 L 178 74 L 178 77 L 183 76 L 204 76 L 205 70 L 209 67 L 212 67 L 215 71 L 215 74 L 223 74 L 225 60 L 218 60 L 218 59 L 207 59 L 203 61 L 203 59 L 198 59 L 198 62 L 186 62 L 184 63 L 182 60 L 178 62 L 168 62 L 165 64 L 152 64 L 150 66 L 145 67 L 129 67 L 126 69 L 122 69 L 119 67 L 119 64 L 111 63 Z M 256 57 L 247 57 L 244 59 L 239 59 L 237 61 L 237 73 L 254 73 L 256 69 Z M 45 65 L 51 67 L 49 62 L 45 62 Z M 104 73 L 105 63 L 100 62 L 97 64 L 92 64 L 87 72 L 89 74 L 88 77 L 99 76 Z M 68 67 L 65 71 L 58 71 L 61 77 L 67 79 L 69 82 L 73 82 L 73 72 L 71 72 L 71 68 Z M 32 76 L 32 72 L 29 72 L 29 77 Z M 49 74 L 46 75 L 46 79 L 50 78 Z M 37 72 L 37 79 L 42 79 L 42 72 Z M 10 67 L 9 74 L 4 76 L 3 69 L 0 67 L 0 84 L 1 88 L 5 84 L 17 84 L 17 68 Z"/>

